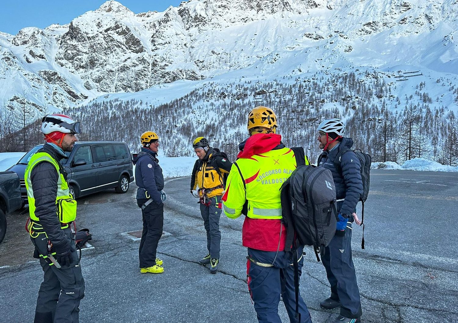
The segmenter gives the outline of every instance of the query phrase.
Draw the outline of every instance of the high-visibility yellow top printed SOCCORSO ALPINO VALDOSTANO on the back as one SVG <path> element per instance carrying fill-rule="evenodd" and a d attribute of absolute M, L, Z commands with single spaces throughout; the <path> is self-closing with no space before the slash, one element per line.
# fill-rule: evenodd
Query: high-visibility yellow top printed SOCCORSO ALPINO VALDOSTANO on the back
<path fill-rule="evenodd" d="M 307 156 L 304 158 L 305 164 L 310 164 Z M 224 194 L 226 216 L 239 217 L 243 204 L 248 201 L 247 217 L 281 219 L 280 187 L 296 169 L 294 152 L 290 148 L 274 149 L 250 158 L 240 158 L 235 163 L 240 172 L 233 164 Z"/>

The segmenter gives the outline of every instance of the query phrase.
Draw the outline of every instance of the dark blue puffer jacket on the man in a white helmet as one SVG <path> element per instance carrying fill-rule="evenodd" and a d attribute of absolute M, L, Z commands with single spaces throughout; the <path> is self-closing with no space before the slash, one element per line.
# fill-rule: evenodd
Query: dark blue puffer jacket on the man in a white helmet
<path fill-rule="evenodd" d="M 352 138 L 342 138 L 337 148 L 332 151 L 324 151 L 318 157 L 318 165 L 331 170 L 333 173 L 334 184 L 336 185 L 337 199 L 345 199 L 338 211 L 347 214 L 355 212 L 356 204 L 360 201 L 360 195 L 363 192 L 363 182 L 361 181 L 360 160 L 353 151 L 347 151 L 342 155 L 340 167 L 342 172 L 339 173 L 334 165 L 334 160 L 339 151 L 350 149 L 353 146 Z"/>

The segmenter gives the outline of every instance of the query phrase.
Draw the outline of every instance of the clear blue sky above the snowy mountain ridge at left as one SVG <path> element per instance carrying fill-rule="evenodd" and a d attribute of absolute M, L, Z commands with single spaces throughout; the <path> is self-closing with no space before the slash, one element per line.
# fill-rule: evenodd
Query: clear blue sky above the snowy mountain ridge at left
<path fill-rule="evenodd" d="M 24 27 L 45 28 L 68 24 L 86 11 L 96 10 L 104 0 L 0 0 L 0 32 L 16 35 Z M 135 13 L 164 11 L 181 0 L 118 0 Z"/>

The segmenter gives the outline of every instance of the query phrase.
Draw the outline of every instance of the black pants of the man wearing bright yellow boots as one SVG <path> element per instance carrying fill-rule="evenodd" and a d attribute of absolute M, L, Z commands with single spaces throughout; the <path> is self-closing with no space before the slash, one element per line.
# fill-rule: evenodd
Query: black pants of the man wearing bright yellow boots
<path fill-rule="evenodd" d="M 138 207 L 148 201 L 148 199 L 137 200 Z M 164 203 L 151 202 L 144 210 L 143 232 L 138 249 L 140 268 L 147 268 L 156 265 L 156 250 L 158 249 L 159 239 L 162 236 L 164 227 Z"/>

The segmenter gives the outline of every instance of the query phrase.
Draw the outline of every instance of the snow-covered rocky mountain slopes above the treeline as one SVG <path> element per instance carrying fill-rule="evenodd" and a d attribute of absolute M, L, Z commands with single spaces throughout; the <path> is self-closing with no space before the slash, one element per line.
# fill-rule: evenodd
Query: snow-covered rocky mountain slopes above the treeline
<path fill-rule="evenodd" d="M 182 79 L 196 81 L 188 89 L 225 83 L 234 71 L 268 80 L 427 70 L 456 80 L 457 17 L 457 0 L 190 0 L 139 14 L 107 1 L 68 25 L 0 32 L 0 102 L 25 89 L 35 106 L 65 108 Z"/>

